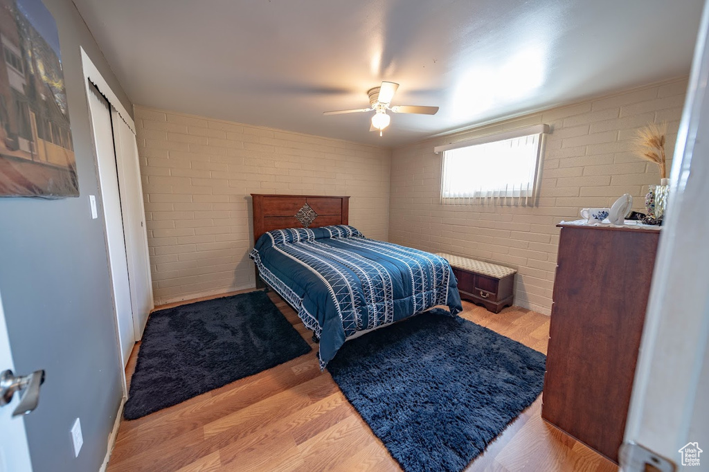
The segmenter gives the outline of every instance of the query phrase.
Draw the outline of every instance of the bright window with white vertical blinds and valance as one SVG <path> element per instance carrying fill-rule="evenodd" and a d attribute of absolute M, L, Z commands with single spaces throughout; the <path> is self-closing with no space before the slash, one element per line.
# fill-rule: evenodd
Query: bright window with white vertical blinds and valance
<path fill-rule="evenodd" d="M 533 205 L 548 125 L 435 147 L 443 153 L 441 202 L 473 204 L 517 198 Z"/>

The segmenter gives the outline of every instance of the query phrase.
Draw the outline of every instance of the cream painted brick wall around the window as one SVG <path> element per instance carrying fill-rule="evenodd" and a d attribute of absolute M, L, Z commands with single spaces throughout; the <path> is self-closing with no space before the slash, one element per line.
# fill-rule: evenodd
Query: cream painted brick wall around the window
<path fill-rule="evenodd" d="M 632 140 L 637 128 L 666 120 L 671 157 L 686 84 L 680 79 L 642 87 L 397 148 L 391 157 L 389 240 L 514 267 L 515 304 L 550 313 L 555 225 L 579 218 L 580 208 L 610 206 L 623 193 L 633 196 L 633 208 L 644 208 L 647 185 L 659 184 L 659 174 L 630 152 Z M 441 156 L 434 146 L 539 123 L 551 125 L 552 134 L 538 206 L 440 204 Z"/>

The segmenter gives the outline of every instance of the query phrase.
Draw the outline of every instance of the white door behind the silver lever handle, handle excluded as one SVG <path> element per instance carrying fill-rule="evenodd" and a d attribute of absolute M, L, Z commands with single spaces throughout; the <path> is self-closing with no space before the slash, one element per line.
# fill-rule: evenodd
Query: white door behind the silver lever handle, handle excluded
<path fill-rule="evenodd" d="M 11 369 L 17 374 L 12 363 L 12 352 L 0 296 L 0 372 L 6 369 Z M 10 403 L 0 406 L 0 472 L 32 471 L 25 420 L 21 416 L 12 416 L 13 410 L 19 403 L 18 397 L 19 395 L 15 394 Z"/>

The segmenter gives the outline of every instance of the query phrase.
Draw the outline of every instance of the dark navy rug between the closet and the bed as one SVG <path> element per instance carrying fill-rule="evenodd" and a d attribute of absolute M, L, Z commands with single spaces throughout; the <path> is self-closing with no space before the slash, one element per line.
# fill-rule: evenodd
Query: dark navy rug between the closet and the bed
<path fill-rule="evenodd" d="M 156 311 L 145 326 L 123 417 L 135 420 L 308 352 L 263 291 Z"/>

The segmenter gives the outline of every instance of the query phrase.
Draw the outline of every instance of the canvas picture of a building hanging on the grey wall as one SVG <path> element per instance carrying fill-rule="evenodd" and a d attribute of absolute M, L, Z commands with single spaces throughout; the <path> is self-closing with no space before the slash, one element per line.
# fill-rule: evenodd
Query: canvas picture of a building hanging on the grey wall
<path fill-rule="evenodd" d="M 79 196 L 57 23 L 0 0 L 0 196 Z"/>

